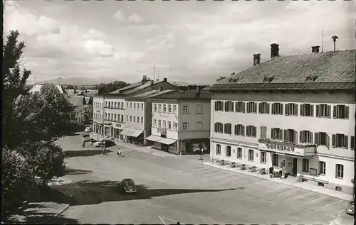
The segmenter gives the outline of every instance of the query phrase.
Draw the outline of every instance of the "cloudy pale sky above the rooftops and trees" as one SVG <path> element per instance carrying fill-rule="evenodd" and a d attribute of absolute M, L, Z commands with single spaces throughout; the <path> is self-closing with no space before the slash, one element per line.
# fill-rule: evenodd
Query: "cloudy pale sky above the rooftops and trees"
<path fill-rule="evenodd" d="M 214 82 L 311 46 L 355 49 L 355 1 L 4 1 L 4 34 L 25 41 L 29 80 L 142 75 Z M 324 41 L 323 41 L 324 31 Z M 321 50 L 321 47 L 320 47 Z"/>

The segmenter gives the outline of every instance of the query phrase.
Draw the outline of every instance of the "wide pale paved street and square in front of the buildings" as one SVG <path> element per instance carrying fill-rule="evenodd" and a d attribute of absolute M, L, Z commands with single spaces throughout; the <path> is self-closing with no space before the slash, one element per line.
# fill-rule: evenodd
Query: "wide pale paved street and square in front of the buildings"
<path fill-rule="evenodd" d="M 62 138 L 69 175 L 58 185 L 73 194 L 63 216 L 101 224 L 353 224 L 347 201 L 258 177 L 201 165 L 199 155 L 173 157 L 122 149 L 80 148 L 81 136 Z M 137 194 L 117 182 L 135 180 Z"/>

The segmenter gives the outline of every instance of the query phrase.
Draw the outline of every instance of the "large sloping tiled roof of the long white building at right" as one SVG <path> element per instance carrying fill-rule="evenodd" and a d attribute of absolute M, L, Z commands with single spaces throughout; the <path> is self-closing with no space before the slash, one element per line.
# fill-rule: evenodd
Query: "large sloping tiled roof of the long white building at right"
<path fill-rule="evenodd" d="M 265 87 L 271 84 L 279 84 L 279 87 L 285 88 L 289 84 L 305 83 L 307 77 L 311 84 L 305 84 L 305 88 L 307 86 L 310 86 L 309 88 L 316 87 L 317 83 L 324 83 L 324 87 L 330 88 L 330 83 L 355 82 L 355 53 L 356 50 L 340 50 L 277 56 L 221 79 L 216 84 L 211 85 L 209 89 L 239 89 L 239 87 L 243 87 L 241 84 L 260 84 L 263 87 L 262 83 L 266 84 Z M 319 85 L 319 87 L 322 86 Z M 246 88 L 246 85 L 244 88 Z"/>

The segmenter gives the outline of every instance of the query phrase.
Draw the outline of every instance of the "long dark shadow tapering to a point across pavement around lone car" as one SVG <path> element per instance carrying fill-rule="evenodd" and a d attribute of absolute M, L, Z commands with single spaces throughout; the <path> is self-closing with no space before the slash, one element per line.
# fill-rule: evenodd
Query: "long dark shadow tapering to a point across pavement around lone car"
<path fill-rule="evenodd" d="M 93 182 L 83 180 L 66 185 L 53 186 L 73 197 L 71 205 L 100 204 L 102 202 L 129 201 L 137 199 L 150 199 L 172 194 L 188 194 L 197 192 L 222 192 L 227 190 L 196 190 L 196 189 L 150 189 L 145 185 L 137 185 L 137 193 L 126 194 L 119 190 L 118 182 Z"/>

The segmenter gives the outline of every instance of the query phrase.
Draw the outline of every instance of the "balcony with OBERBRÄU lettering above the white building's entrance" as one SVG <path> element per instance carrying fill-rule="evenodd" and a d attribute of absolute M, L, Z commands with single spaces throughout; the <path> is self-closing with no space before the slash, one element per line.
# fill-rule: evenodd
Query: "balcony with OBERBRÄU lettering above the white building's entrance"
<path fill-rule="evenodd" d="M 258 139 L 259 148 L 276 153 L 288 153 L 290 155 L 314 155 L 316 146 L 312 143 L 290 143 L 287 141 L 274 141 L 269 138 Z"/>

